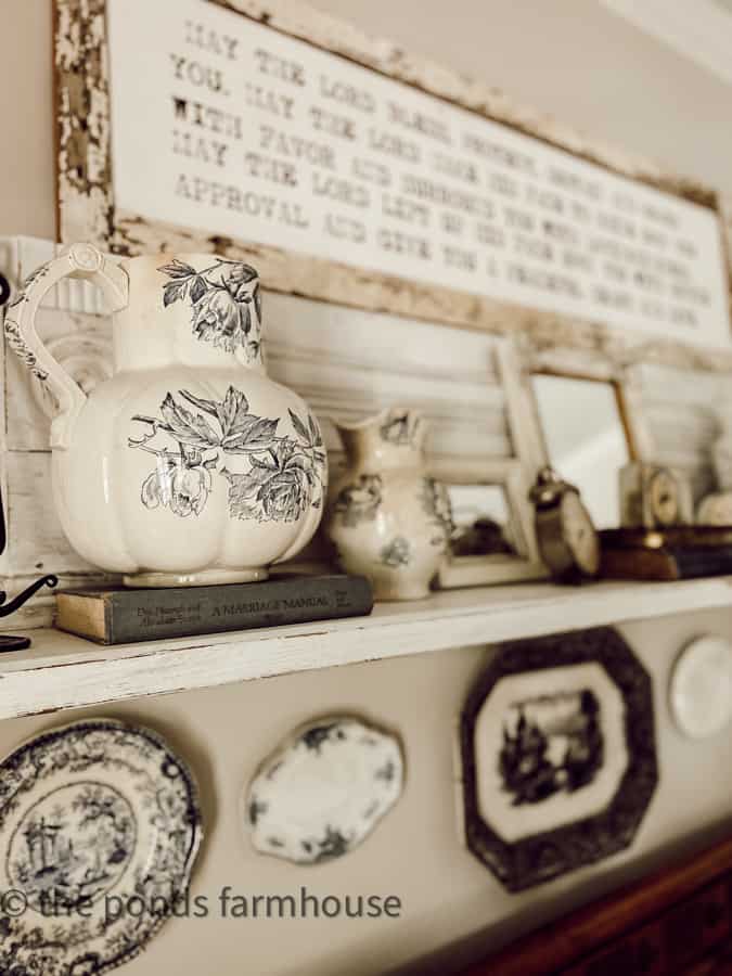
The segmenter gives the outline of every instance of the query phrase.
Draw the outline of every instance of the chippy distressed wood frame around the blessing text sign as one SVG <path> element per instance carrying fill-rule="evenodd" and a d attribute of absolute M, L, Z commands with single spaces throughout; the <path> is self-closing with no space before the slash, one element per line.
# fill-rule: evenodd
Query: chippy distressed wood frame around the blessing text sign
<path fill-rule="evenodd" d="M 497 89 L 374 39 L 299 0 L 209 0 L 275 31 L 397 79 L 493 121 L 542 140 L 582 159 L 676 194 L 732 221 L 732 206 L 707 187 L 672 176 L 653 162 L 588 139 L 553 119 L 511 102 Z M 59 233 L 65 243 L 89 241 L 118 254 L 215 252 L 247 260 L 267 288 L 344 306 L 501 334 L 521 333 L 535 345 L 602 348 L 620 360 L 652 358 L 669 364 L 702 362 L 732 371 L 732 352 L 692 349 L 676 341 L 652 341 L 603 322 L 558 316 L 451 288 L 374 273 L 281 248 L 235 241 L 185 228 L 151 223 L 115 207 L 112 181 L 110 76 L 105 0 L 54 0 L 57 114 Z M 728 230 L 729 235 L 729 230 Z M 728 248 L 729 254 L 729 248 Z M 728 265 L 729 265 L 728 259 Z"/>

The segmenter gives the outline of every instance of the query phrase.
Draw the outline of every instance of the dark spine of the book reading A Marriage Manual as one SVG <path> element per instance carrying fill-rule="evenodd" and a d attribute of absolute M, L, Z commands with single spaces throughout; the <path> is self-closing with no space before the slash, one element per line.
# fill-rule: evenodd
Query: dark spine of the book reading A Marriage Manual
<path fill-rule="evenodd" d="M 146 590 L 131 601 L 114 594 L 104 643 L 123 644 L 162 638 L 281 627 L 371 613 L 373 592 L 363 577 L 300 578 L 246 587 L 200 587 L 195 593 Z M 140 593 L 140 591 L 138 591 Z"/>

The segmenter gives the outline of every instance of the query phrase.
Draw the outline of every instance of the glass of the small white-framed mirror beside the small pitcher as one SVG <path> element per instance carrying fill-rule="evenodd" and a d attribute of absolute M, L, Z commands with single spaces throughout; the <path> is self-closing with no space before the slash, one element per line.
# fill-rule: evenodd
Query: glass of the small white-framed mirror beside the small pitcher
<path fill-rule="evenodd" d="M 452 556 L 515 555 L 505 491 L 500 485 L 445 485 Z"/>

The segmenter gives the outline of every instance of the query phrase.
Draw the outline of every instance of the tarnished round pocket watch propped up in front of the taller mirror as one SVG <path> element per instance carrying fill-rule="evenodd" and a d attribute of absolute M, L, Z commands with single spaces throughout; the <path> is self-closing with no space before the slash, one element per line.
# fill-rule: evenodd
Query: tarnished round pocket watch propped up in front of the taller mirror
<path fill-rule="evenodd" d="M 593 579 L 600 572 L 600 537 L 579 489 L 542 467 L 529 493 L 541 558 L 562 582 Z"/>

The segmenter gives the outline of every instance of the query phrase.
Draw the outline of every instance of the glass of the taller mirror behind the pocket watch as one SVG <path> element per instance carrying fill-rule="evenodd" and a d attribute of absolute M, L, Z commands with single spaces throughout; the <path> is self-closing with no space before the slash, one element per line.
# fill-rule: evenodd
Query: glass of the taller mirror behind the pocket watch
<path fill-rule="evenodd" d="M 579 488 L 595 528 L 617 528 L 619 473 L 630 453 L 615 386 L 549 375 L 531 383 L 552 466 Z"/>

